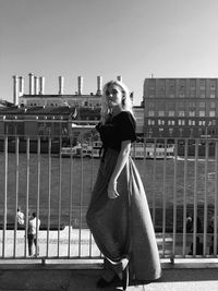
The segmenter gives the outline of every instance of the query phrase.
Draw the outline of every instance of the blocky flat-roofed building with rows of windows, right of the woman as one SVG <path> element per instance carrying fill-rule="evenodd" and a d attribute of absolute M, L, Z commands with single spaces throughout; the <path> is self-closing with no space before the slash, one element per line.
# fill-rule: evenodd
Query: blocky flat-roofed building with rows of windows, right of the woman
<path fill-rule="evenodd" d="M 143 98 L 145 136 L 218 136 L 218 78 L 146 78 Z"/>

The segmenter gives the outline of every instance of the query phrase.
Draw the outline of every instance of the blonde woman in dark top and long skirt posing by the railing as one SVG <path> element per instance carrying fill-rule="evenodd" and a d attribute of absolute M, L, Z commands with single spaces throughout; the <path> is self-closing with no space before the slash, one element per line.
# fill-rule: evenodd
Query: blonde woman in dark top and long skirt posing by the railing
<path fill-rule="evenodd" d="M 105 256 L 107 287 L 116 277 L 125 290 L 132 279 L 160 277 L 160 262 L 144 187 L 130 157 L 136 140 L 132 100 L 126 86 L 111 81 L 104 86 L 101 122 L 96 126 L 104 154 L 87 211 L 87 225 Z"/>

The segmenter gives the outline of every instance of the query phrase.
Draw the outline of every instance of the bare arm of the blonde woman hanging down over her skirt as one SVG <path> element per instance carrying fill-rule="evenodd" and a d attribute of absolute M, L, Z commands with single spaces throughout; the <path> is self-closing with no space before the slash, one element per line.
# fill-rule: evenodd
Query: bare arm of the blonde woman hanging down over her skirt
<path fill-rule="evenodd" d="M 121 150 L 118 156 L 116 168 L 112 172 L 112 175 L 110 178 L 110 182 L 108 184 L 108 197 L 110 199 L 114 199 L 119 196 L 119 193 L 117 191 L 117 180 L 122 172 L 122 169 L 124 168 L 126 160 L 129 158 L 131 150 L 131 141 L 123 141 L 121 143 Z"/>

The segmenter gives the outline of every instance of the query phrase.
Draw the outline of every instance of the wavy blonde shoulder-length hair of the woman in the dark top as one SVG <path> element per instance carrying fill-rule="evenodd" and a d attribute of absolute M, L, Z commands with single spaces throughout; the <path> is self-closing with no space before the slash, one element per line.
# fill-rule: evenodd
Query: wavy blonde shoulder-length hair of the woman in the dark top
<path fill-rule="evenodd" d="M 109 107 L 108 107 L 108 99 L 106 96 L 106 90 L 110 87 L 110 86 L 118 86 L 121 88 L 121 92 L 123 94 L 123 98 L 122 98 L 122 108 L 124 111 L 129 111 L 133 118 L 134 113 L 133 113 L 133 102 L 132 99 L 130 97 L 130 92 L 129 88 L 125 86 L 125 84 L 123 84 L 122 82 L 118 81 L 118 80 L 112 80 L 108 83 L 105 84 L 104 88 L 102 88 L 102 98 L 101 98 L 101 122 L 105 124 L 105 122 L 107 121 L 107 119 L 109 118 Z"/>

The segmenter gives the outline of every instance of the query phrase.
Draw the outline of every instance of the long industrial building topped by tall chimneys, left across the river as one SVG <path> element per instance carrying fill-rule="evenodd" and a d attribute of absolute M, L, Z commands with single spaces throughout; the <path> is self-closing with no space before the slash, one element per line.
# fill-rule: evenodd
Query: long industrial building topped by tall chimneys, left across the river
<path fill-rule="evenodd" d="M 122 81 L 121 76 L 118 80 Z M 100 105 L 102 96 L 102 77 L 97 76 L 97 89 L 95 94 L 83 94 L 83 77 L 77 77 L 77 92 L 75 94 L 63 94 L 64 78 L 58 77 L 59 92 L 57 95 L 45 94 L 45 77 L 28 74 L 28 94 L 24 93 L 24 77 L 13 76 L 13 101 L 14 104 L 2 102 L 0 108 L 0 140 L 7 135 L 9 138 L 10 151 L 15 150 L 15 136 L 23 141 L 23 150 L 26 150 L 26 138 L 31 142 L 48 142 L 48 136 L 52 141 L 59 142 L 62 136 L 62 145 L 69 143 L 72 134 L 72 121 L 83 124 L 93 124 L 100 119 Z M 133 94 L 132 94 L 133 97 Z M 144 108 L 134 107 L 138 136 L 144 131 Z M 75 129 L 73 129 L 75 132 Z M 74 134 L 78 136 L 80 133 Z M 75 141 L 74 141 L 75 142 Z M 59 143 L 57 143 L 58 145 Z M 3 143 L 1 142 L 3 147 Z M 41 144 L 43 146 L 43 144 Z M 60 145 L 59 145 L 60 146 Z M 46 145 L 47 147 L 47 145 Z M 36 145 L 32 145 L 36 151 Z M 3 148 L 1 148 L 2 150 Z M 48 150 L 47 148 L 45 149 Z M 55 151 L 59 150 L 57 148 Z"/>

